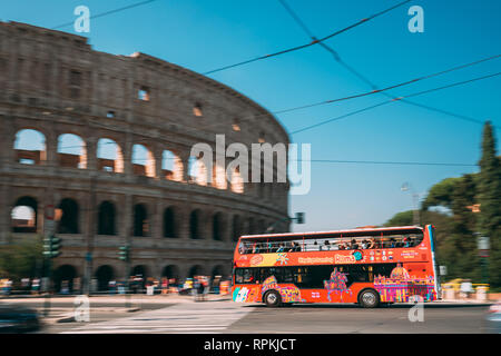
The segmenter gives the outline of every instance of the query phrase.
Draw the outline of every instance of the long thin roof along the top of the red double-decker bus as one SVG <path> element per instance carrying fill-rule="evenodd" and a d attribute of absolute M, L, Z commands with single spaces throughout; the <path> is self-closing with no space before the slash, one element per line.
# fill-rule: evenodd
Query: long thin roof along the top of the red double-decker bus
<path fill-rule="evenodd" d="M 303 238 L 322 238 L 325 236 L 338 235 L 338 237 L 354 237 L 366 236 L 367 233 L 381 233 L 382 235 L 391 235 L 392 233 L 401 234 L 420 234 L 423 228 L 420 226 L 395 226 L 395 227 L 377 227 L 377 228 L 356 228 L 347 230 L 331 230 L 331 231 L 304 231 L 304 233 L 284 233 L 284 234 L 262 234 L 262 235 L 244 235 L 240 239 L 269 239 L 283 238 L 284 240 L 292 240 L 298 237 Z M 380 235 L 380 234 L 377 234 Z"/>

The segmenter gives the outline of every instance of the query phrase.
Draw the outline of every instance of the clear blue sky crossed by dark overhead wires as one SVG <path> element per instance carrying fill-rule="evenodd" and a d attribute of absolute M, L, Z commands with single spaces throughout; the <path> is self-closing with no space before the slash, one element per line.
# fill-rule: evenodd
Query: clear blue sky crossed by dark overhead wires
<path fill-rule="evenodd" d="M 53 28 L 139 0 L 2 1 L 0 19 Z M 288 0 L 321 38 L 397 0 Z M 424 9 L 424 32 L 411 33 L 411 6 Z M 379 87 L 410 80 L 501 53 L 501 1 L 416 0 L 326 41 L 341 58 Z M 75 33 L 72 26 L 60 30 Z M 80 33 L 81 34 L 81 33 Z M 141 51 L 205 72 L 310 41 L 278 0 L 157 0 L 91 20 L 89 42 L 116 55 Z M 500 71 L 492 60 L 425 80 L 402 96 Z M 370 87 L 320 46 L 209 75 L 271 111 L 334 99 Z M 501 126 L 500 77 L 413 98 L 414 101 Z M 277 115 L 288 132 L 385 100 L 382 95 Z M 402 102 L 291 136 L 312 145 L 312 159 L 477 164 L 482 126 Z M 499 137 L 500 130 L 497 130 Z M 291 197 L 291 214 L 306 212 L 294 230 L 377 225 L 412 208 L 409 181 L 422 197 L 435 182 L 477 167 L 313 164 L 312 189 Z"/>

